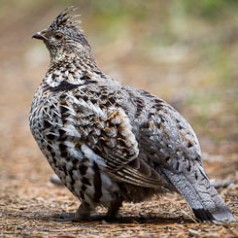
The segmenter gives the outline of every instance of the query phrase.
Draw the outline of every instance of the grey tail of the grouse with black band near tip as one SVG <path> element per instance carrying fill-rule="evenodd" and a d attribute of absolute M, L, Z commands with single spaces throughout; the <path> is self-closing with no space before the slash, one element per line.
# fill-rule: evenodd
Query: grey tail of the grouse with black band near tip
<path fill-rule="evenodd" d="M 165 168 L 163 173 L 176 190 L 185 198 L 200 221 L 230 222 L 235 221 L 230 209 L 226 206 L 199 163 L 194 165 L 193 172 L 173 172 Z"/>

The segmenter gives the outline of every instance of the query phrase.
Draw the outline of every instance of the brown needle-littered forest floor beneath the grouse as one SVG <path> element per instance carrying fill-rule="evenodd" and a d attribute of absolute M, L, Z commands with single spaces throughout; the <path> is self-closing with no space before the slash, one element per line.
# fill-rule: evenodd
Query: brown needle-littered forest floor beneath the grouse
<path fill-rule="evenodd" d="M 16 142 L 16 150 L 18 145 Z M 43 158 L 38 161 L 30 155 L 20 158 L 12 155 L 8 158 L 11 162 L 1 164 L 7 171 L 5 176 L 1 175 L 2 237 L 238 237 L 237 222 L 195 222 L 187 204 L 177 194 L 154 197 L 138 204 L 124 203 L 121 217 L 113 223 L 103 218 L 79 223 L 64 221 L 62 215 L 73 217 L 79 204 L 77 199 L 64 187 L 48 181 L 51 170 Z M 210 177 L 236 181 L 219 192 L 238 216 L 235 163 L 235 157 L 226 157 L 220 158 L 219 164 L 217 160 L 208 159 L 205 165 Z M 97 214 L 103 215 L 105 210 L 98 208 Z"/>

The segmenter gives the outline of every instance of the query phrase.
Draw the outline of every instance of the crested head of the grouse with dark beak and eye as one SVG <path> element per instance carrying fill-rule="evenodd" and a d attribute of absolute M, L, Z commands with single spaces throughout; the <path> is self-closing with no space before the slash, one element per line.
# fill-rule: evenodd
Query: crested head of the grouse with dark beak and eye
<path fill-rule="evenodd" d="M 70 15 L 75 10 L 69 7 L 61 12 L 52 24 L 32 37 L 43 40 L 46 44 L 51 61 L 57 62 L 65 56 L 91 57 L 91 48 L 83 31 L 78 28 L 76 16 Z"/>

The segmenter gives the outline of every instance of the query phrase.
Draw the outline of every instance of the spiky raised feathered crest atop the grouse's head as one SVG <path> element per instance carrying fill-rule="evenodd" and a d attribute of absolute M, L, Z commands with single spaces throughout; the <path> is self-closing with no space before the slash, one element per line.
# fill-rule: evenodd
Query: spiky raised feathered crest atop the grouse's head
<path fill-rule="evenodd" d="M 78 28 L 81 21 L 78 19 L 80 15 L 71 15 L 73 11 L 77 8 L 70 6 L 61 12 L 55 20 L 50 25 L 51 29 L 63 28 L 63 27 L 73 27 Z"/>

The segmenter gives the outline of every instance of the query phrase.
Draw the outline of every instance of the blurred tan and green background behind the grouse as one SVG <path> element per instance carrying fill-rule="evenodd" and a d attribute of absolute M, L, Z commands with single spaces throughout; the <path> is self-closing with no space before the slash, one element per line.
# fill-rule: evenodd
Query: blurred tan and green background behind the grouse
<path fill-rule="evenodd" d="M 0 0 L 2 179 L 51 173 L 28 126 L 49 64 L 31 36 L 69 5 L 103 71 L 171 103 L 194 127 L 204 158 L 233 158 L 237 169 L 238 1 Z"/>

